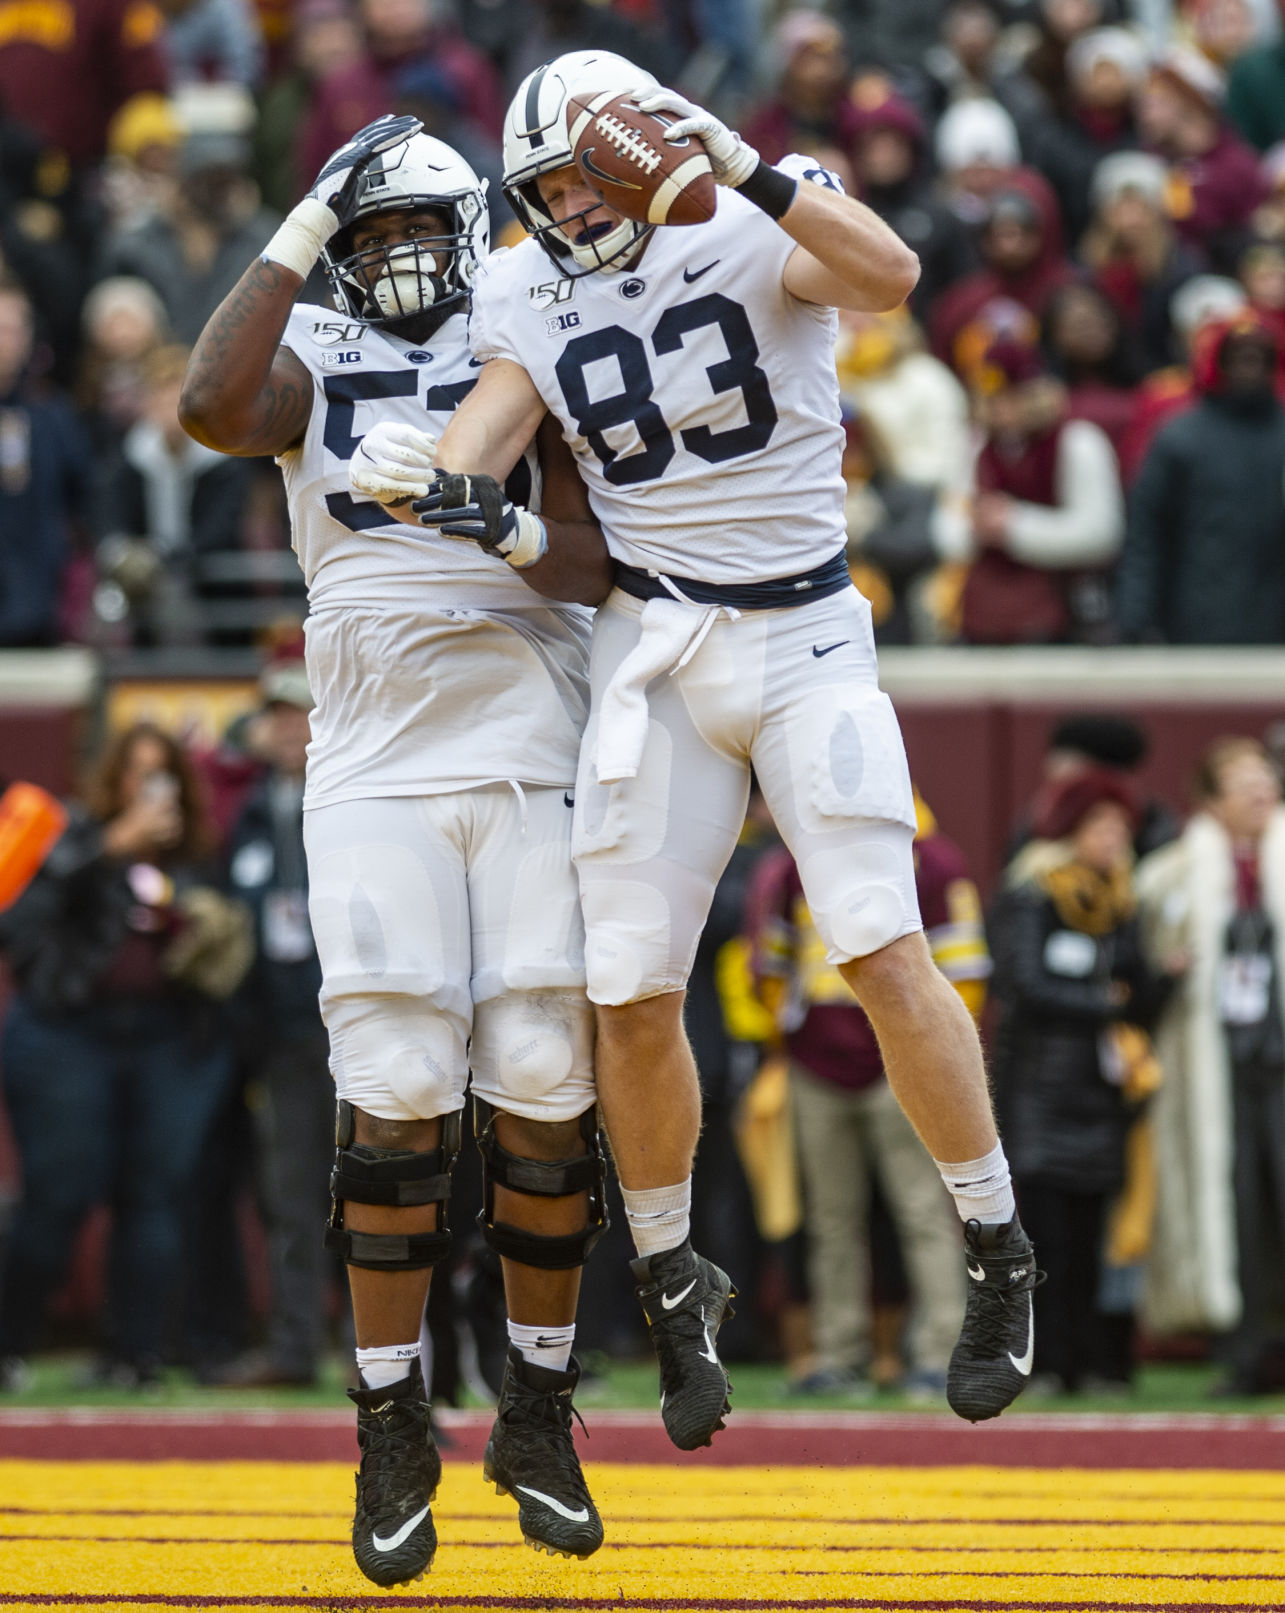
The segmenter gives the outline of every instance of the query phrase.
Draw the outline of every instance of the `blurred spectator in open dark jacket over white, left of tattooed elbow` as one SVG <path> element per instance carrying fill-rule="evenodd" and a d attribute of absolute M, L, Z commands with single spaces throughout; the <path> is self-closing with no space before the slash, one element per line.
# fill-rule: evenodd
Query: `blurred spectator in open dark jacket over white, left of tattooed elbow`
<path fill-rule="evenodd" d="M 142 365 L 143 408 L 106 460 L 94 500 L 102 582 L 95 606 L 145 644 L 202 644 L 203 556 L 240 544 L 253 465 L 193 442 L 179 426 L 187 348 Z"/>

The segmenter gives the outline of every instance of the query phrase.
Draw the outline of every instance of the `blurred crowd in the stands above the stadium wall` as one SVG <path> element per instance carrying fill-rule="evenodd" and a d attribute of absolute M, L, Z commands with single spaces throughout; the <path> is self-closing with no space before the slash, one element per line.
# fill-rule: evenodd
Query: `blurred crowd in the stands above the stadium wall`
<path fill-rule="evenodd" d="M 916 248 L 845 315 L 853 576 L 893 644 L 1285 642 L 1272 0 L 3 0 L 0 645 L 271 642 L 271 465 L 184 437 L 187 345 L 326 155 L 621 52 Z M 324 286 L 308 295 L 324 298 Z"/>

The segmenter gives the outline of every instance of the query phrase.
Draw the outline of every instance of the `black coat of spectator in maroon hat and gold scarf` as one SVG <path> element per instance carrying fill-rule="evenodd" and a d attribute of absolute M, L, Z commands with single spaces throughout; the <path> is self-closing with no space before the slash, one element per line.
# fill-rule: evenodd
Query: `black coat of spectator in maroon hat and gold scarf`
<path fill-rule="evenodd" d="M 1101 1036 L 1122 1016 L 1111 986 L 1129 986 L 1127 1018 L 1143 1024 L 1161 997 L 1137 923 L 1103 937 L 1067 931 L 1043 890 L 1019 886 L 1000 897 L 987 931 L 1000 1007 L 992 1071 L 1013 1174 L 1112 1194 L 1132 1115 L 1103 1077 Z"/>

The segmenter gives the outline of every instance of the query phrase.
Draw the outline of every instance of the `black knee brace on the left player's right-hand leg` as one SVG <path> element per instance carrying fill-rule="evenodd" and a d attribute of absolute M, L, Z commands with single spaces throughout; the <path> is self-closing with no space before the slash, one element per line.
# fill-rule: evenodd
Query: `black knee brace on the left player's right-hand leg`
<path fill-rule="evenodd" d="M 482 1210 L 477 1224 L 487 1244 L 524 1266 L 540 1266 L 545 1271 L 569 1271 L 582 1266 L 611 1224 L 606 1215 L 606 1160 L 598 1132 L 598 1110 L 580 1115 L 580 1136 L 588 1144 L 587 1153 L 574 1160 L 524 1160 L 495 1140 L 495 1110 L 484 1098 L 472 1100 L 474 1131 L 482 1155 Z M 588 1226 L 582 1232 L 555 1236 L 527 1232 L 521 1226 L 495 1221 L 495 1184 L 514 1194 L 532 1194 L 537 1198 L 563 1198 L 568 1194 L 588 1194 Z"/>

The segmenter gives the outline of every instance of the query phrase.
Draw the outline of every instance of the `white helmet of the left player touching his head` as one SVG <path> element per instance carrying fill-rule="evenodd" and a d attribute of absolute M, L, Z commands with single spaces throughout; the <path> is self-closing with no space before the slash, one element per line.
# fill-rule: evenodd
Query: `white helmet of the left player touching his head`
<path fill-rule="evenodd" d="M 353 224 L 376 213 L 416 208 L 442 213 L 450 221 L 447 234 L 353 250 Z M 443 140 L 413 134 L 371 161 L 356 213 L 331 237 L 321 261 L 340 311 L 364 324 L 387 326 L 464 302 L 489 248 L 485 181 Z"/>

